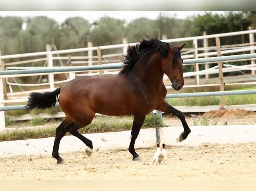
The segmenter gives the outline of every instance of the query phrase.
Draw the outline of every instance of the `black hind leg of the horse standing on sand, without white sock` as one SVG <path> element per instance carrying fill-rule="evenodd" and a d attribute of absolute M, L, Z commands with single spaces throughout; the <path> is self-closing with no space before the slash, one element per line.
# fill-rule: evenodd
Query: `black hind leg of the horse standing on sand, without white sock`
<path fill-rule="evenodd" d="M 66 130 L 64 129 L 66 119 L 62 121 L 62 123 L 56 128 L 56 136 L 54 140 L 52 156 L 57 159 L 57 164 L 61 164 L 63 159 L 59 156 L 59 143 L 63 136 L 66 134 Z"/>

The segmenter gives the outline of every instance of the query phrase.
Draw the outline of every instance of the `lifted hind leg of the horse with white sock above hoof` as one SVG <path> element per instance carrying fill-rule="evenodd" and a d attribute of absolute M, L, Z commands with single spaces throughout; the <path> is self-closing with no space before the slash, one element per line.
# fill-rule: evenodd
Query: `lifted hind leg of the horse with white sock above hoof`
<path fill-rule="evenodd" d="M 91 123 L 91 121 L 89 122 L 89 124 Z M 88 124 L 86 124 L 88 125 Z M 75 122 L 69 123 L 68 125 L 66 125 L 64 128 L 66 131 L 68 131 L 70 134 L 72 134 L 73 136 L 79 138 L 81 141 L 83 141 L 83 143 L 85 143 L 85 145 L 87 146 L 87 148 L 85 149 L 85 152 L 88 156 L 91 156 L 92 152 L 93 152 L 93 142 L 89 139 L 87 139 L 86 137 L 84 137 L 83 135 L 81 135 L 77 130 L 86 126 L 86 125 L 78 125 Z"/>

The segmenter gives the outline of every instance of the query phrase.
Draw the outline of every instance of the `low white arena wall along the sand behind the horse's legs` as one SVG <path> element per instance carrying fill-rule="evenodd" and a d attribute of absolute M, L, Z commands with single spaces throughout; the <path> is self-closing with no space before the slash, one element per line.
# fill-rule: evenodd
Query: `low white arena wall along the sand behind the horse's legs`
<path fill-rule="evenodd" d="M 199 146 L 203 143 L 247 143 L 256 141 L 256 125 L 191 126 L 191 133 L 179 143 L 177 137 L 183 127 L 159 128 L 160 139 L 166 146 Z M 130 131 L 84 134 L 93 141 L 94 152 L 103 150 L 128 150 Z M 0 157 L 18 155 L 51 155 L 54 137 L 0 142 Z M 156 129 L 141 129 L 135 148 L 149 148 L 156 145 Z M 59 153 L 84 151 L 85 145 L 74 136 L 65 136 L 60 142 Z M 128 151 L 127 151 L 128 152 Z M 93 155 L 92 155 L 93 156 Z"/>

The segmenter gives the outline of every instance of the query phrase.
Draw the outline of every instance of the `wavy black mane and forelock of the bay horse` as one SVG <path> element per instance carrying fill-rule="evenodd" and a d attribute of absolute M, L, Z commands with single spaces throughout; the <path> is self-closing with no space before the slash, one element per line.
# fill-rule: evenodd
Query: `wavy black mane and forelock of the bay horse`
<path fill-rule="evenodd" d="M 134 46 L 129 46 L 127 49 L 127 54 L 123 56 L 123 64 L 125 66 L 123 70 L 120 71 L 120 74 L 126 74 L 129 72 L 141 55 L 149 50 L 154 50 L 153 53 L 158 52 L 162 57 L 166 58 L 170 52 L 169 46 L 169 43 L 159 41 L 158 39 L 144 39 Z M 180 54 L 179 50 L 175 48 L 176 47 L 174 47 L 175 54 L 173 61 L 177 60 L 177 57 Z"/>

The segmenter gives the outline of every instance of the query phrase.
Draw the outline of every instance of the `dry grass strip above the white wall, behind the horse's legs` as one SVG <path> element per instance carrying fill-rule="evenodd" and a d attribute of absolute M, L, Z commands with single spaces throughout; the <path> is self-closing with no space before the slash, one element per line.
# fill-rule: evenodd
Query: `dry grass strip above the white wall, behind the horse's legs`
<path fill-rule="evenodd" d="M 159 121 L 159 119 L 156 117 Z M 61 120 L 51 120 L 47 121 L 46 119 L 42 119 L 36 117 L 33 120 L 23 123 L 23 126 L 37 126 L 43 125 L 47 122 L 50 122 L 50 126 L 52 128 L 41 127 L 37 129 L 23 129 L 23 130 L 7 130 L 6 132 L 0 133 L 0 141 L 11 141 L 11 140 L 24 140 L 24 139 L 37 139 L 37 138 L 46 138 L 46 137 L 54 137 L 55 129 L 61 123 Z M 89 133 L 102 133 L 102 132 L 118 132 L 118 131 L 126 131 L 132 129 L 133 117 L 125 116 L 125 117 L 107 117 L 107 116 L 97 116 L 93 120 L 93 122 L 79 129 L 81 134 L 89 134 Z M 49 123 L 48 123 L 49 124 Z M 16 124 L 17 125 L 17 124 Z M 163 124 L 156 122 L 152 115 L 147 115 L 146 119 L 142 125 L 142 128 L 154 128 L 154 127 L 162 127 Z M 67 133 L 66 135 L 70 135 Z"/>

